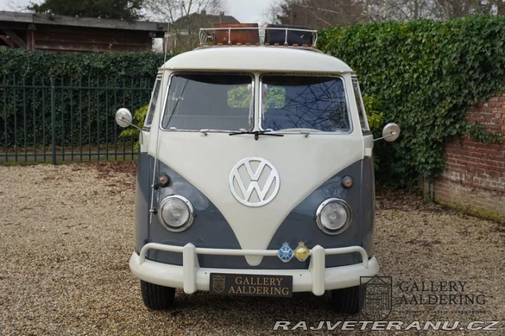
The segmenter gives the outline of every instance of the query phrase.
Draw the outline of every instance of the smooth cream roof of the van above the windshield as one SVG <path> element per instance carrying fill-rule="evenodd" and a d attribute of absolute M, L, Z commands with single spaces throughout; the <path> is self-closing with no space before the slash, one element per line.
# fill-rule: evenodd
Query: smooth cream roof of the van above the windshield
<path fill-rule="evenodd" d="M 202 47 L 170 58 L 168 70 L 352 73 L 342 60 L 318 50 L 283 46 L 222 45 Z"/>

